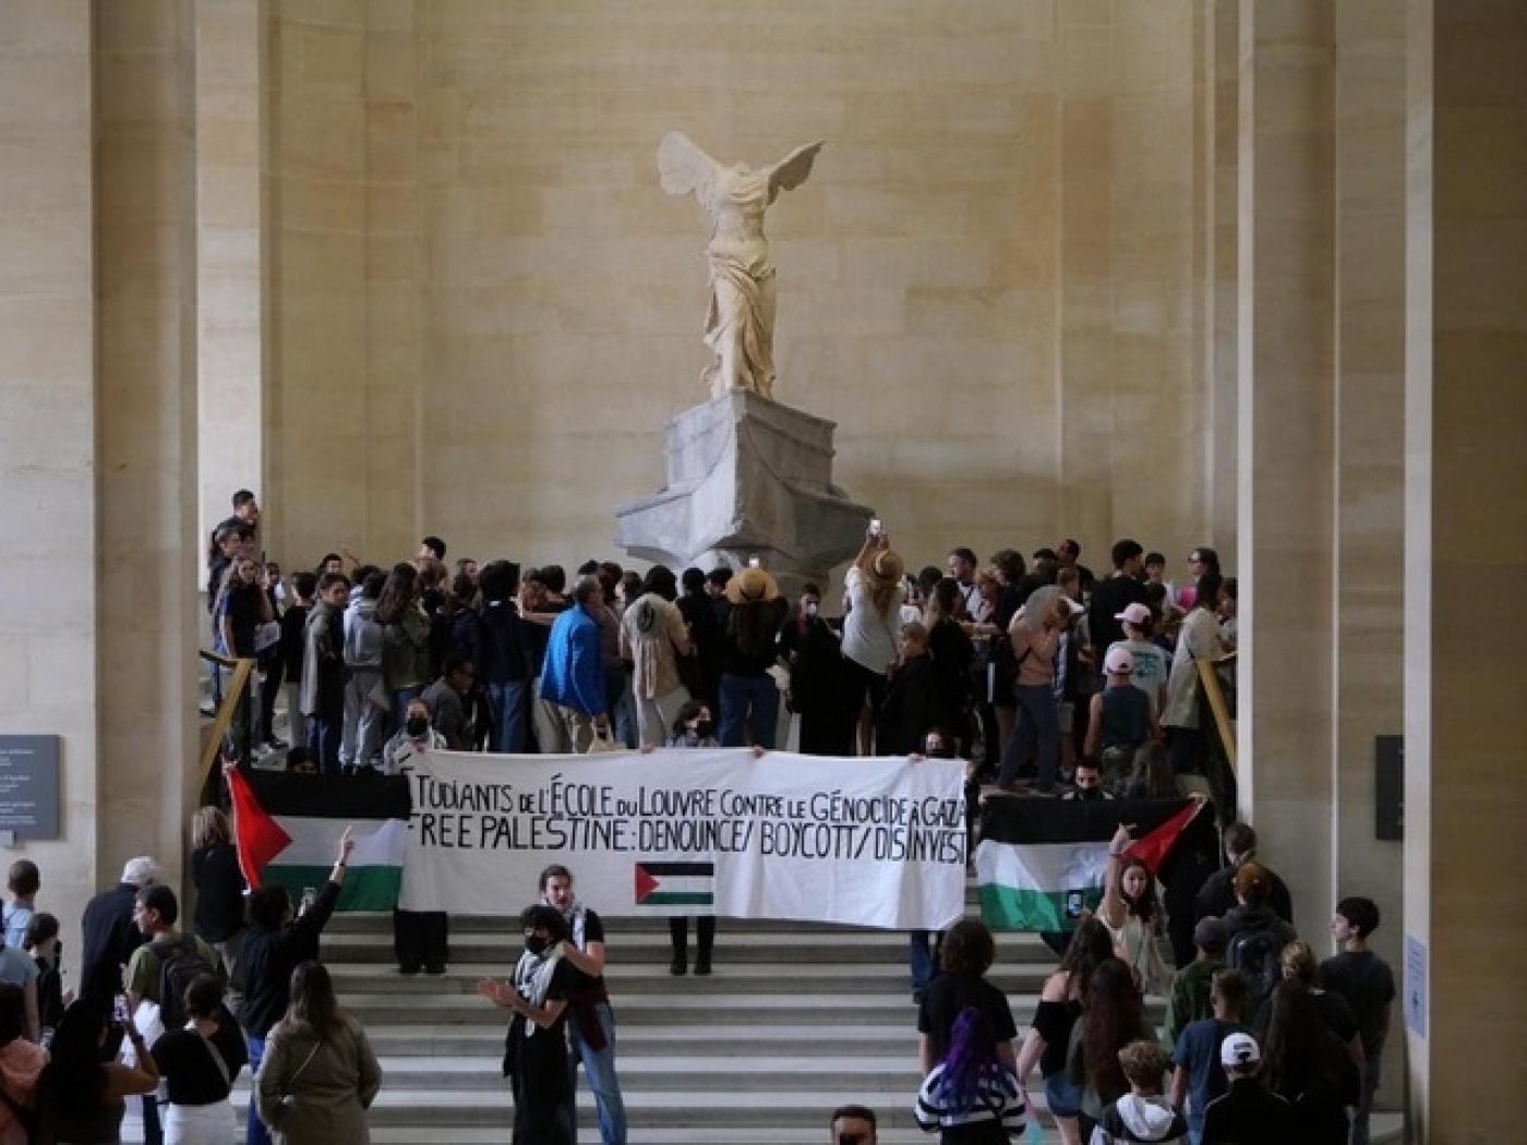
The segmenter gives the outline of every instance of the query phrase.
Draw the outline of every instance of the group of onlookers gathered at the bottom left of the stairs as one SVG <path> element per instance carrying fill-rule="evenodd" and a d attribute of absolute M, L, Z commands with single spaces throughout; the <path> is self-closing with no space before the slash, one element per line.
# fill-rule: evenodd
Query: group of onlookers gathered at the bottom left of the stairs
<path fill-rule="evenodd" d="M 253 1099 L 244 1140 L 366 1140 L 380 1070 L 318 962 L 354 844 L 347 832 L 315 902 L 295 910 L 284 889 L 266 885 L 246 907 L 241 881 L 224 876 L 232 843 L 220 817 L 215 808 L 197 814 L 189 927 L 150 856 L 130 860 L 118 885 L 90 899 L 78 997 L 61 988 L 60 922 L 35 905 L 41 873 L 29 860 L 11 866 L 0 1145 L 118 1142 L 128 1102 L 150 1145 L 232 1145 L 231 1095 L 246 1066 Z"/>

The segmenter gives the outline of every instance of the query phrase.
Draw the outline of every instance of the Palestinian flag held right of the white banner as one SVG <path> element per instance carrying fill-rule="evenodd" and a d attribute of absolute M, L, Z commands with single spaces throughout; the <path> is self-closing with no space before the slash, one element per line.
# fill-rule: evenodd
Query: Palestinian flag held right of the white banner
<path fill-rule="evenodd" d="M 1212 834 L 1208 805 L 1188 798 L 993 798 L 983 805 L 976 884 L 994 930 L 1064 931 L 1102 901 L 1109 841 L 1135 826 L 1128 855 L 1157 878 L 1196 820 Z"/>

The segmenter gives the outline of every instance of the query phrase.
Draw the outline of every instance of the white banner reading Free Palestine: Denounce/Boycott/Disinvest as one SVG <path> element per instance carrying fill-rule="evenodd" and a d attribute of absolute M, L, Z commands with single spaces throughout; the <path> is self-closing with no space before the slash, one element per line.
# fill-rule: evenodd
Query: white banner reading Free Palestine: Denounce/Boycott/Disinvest
<path fill-rule="evenodd" d="M 612 918 L 941 930 L 964 914 L 957 760 L 431 751 L 409 782 L 405 910 L 513 913 L 560 863 Z"/>

